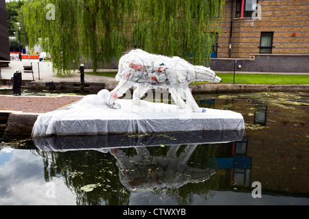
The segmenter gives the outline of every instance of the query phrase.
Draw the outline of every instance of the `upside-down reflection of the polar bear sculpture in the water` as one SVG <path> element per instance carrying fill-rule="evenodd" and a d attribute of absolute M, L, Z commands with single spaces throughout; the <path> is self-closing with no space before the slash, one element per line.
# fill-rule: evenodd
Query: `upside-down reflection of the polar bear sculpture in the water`
<path fill-rule="evenodd" d="M 216 172 L 187 166 L 197 144 L 188 145 L 176 157 L 180 145 L 171 146 L 166 157 L 150 155 L 146 147 L 136 147 L 137 155 L 128 157 L 121 149 L 112 149 L 117 159 L 120 181 L 130 191 L 149 188 L 179 188 L 187 183 L 206 181 Z"/>

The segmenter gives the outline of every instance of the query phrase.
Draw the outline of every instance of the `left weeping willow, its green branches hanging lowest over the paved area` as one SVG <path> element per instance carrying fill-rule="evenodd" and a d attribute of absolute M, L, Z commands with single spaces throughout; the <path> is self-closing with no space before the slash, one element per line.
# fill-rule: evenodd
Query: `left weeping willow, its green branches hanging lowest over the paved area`
<path fill-rule="evenodd" d="M 57 75 L 66 75 L 81 57 L 100 63 L 119 57 L 128 45 L 126 16 L 131 0 L 30 0 L 23 6 L 30 47 L 41 42 Z M 41 41 L 39 41 L 41 39 Z"/>

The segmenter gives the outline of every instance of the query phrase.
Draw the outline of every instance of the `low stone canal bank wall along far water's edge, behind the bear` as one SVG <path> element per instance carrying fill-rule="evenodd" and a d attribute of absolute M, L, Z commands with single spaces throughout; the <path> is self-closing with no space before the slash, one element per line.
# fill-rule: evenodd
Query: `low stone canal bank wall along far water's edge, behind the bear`
<path fill-rule="evenodd" d="M 95 75 L 93 75 L 95 76 Z M 99 77 L 100 80 L 95 80 Z M 102 89 L 113 90 L 117 86 L 114 78 L 96 76 L 84 84 L 77 80 L 52 80 L 52 81 L 32 81 L 23 80 L 21 88 L 32 90 L 72 90 L 95 93 Z M 12 87 L 13 81 L 1 79 L 0 86 Z M 309 84 L 243 84 L 243 83 L 203 83 L 190 85 L 193 94 L 218 93 L 218 92 L 309 92 Z"/>

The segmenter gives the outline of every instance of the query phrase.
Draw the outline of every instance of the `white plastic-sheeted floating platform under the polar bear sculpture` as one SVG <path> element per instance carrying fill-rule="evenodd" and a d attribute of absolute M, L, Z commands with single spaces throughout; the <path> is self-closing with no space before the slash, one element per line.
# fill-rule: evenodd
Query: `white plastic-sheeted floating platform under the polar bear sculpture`
<path fill-rule="evenodd" d="M 153 133 L 170 131 L 244 130 L 242 115 L 228 110 L 207 109 L 201 114 L 176 105 L 118 99 L 123 107 L 106 104 L 108 90 L 84 96 L 68 110 L 38 116 L 32 136 L 100 135 L 106 133 Z"/>

